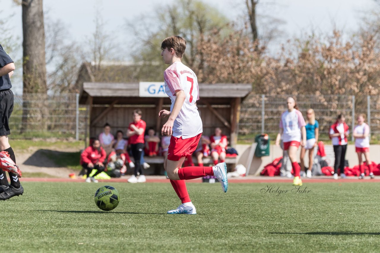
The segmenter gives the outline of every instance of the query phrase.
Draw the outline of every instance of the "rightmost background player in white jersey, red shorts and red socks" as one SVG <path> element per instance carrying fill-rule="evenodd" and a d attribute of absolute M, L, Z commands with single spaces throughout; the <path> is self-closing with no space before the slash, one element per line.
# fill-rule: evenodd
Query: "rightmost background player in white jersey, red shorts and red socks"
<path fill-rule="evenodd" d="M 364 119 L 366 116 L 364 114 L 359 114 L 358 116 L 358 125 L 354 129 L 353 136 L 355 138 L 355 151 L 358 153 L 359 159 L 359 168 L 360 168 L 360 176 L 359 179 L 364 179 L 364 165 L 362 154 L 364 154 L 364 158 L 366 159 L 367 166 L 369 168 L 369 176 L 371 179 L 375 178 L 373 173 L 373 166 L 369 159 L 369 126 L 364 123 Z"/>

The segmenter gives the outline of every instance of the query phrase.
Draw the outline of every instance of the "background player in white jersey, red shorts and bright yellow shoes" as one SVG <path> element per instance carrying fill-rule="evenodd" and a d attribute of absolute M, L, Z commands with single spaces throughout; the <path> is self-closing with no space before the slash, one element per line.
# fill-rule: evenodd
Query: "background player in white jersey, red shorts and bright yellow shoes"
<path fill-rule="evenodd" d="M 306 123 L 302 113 L 297 109 L 293 97 L 287 99 L 288 110 L 283 112 L 280 119 L 280 131 L 277 134 L 276 145 L 280 146 L 281 135 L 284 143 L 284 150 L 288 151 L 291 167 L 294 171 L 293 185 L 302 185 L 299 175 L 301 167 L 297 162 L 297 150 L 299 145 L 302 147 L 306 143 Z M 302 139 L 301 139 L 302 137 Z"/>

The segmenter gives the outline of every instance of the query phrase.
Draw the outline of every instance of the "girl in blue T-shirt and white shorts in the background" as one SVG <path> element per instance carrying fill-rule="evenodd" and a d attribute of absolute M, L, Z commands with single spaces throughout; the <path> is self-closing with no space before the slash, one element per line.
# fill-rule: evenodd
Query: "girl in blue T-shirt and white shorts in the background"
<path fill-rule="evenodd" d="M 307 124 L 305 126 L 306 128 L 306 144 L 301 149 L 301 170 L 305 170 L 305 164 L 304 164 L 304 156 L 306 153 L 306 150 L 309 150 L 309 168 L 306 171 L 306 176 L 308 178 L 311 178 L 311 169 L 313 167 L 313 154 L 314 154 L 314 147 L 317 146 L 318 143 L 318 121 L 315 120 L 315 114 L 313 109 L 307 110 Z"/>

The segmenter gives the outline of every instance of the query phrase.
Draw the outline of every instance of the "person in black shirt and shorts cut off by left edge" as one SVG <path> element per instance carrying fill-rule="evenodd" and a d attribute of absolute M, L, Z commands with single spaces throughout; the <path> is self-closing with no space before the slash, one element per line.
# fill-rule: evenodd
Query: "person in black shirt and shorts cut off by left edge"
<path fill-rule="evenodd" d="M 8 135 L 11 134 L 9 118 L 13 111 L 10 77 L 13 75 L 14 69 L 13 60 L 0 45 L 0 200 L 7 200 L 24 193 L 19 181 L 21 171 L 16 165 L 16 157 L 8 141 Z M 4 171 L 9 174 L 10 185 Z"/>

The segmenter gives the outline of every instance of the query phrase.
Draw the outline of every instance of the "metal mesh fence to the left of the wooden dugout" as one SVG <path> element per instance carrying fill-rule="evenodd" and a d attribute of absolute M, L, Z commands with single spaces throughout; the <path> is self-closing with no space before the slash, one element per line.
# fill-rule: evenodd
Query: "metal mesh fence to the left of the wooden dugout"
<path fill-rule="evenodd" d="M 11 137 L 83 139 L 87 112 L 87 107 L 79 106 L 79 94 L 15 95 Z"/>

